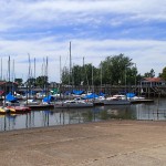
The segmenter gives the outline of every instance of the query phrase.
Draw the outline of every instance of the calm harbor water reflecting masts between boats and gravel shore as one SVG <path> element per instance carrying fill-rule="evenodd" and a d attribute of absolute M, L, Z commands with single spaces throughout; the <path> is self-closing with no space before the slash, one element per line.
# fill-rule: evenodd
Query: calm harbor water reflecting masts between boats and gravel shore
<path fill-rule="evenodd" d="M 111 121 L 115 118 L 166 121 L 166 98 L 155 98 L 154 103 L 107 105 L 89 108 L 35 110 L 25 114 L 0 115 L 0 132 Z"/>

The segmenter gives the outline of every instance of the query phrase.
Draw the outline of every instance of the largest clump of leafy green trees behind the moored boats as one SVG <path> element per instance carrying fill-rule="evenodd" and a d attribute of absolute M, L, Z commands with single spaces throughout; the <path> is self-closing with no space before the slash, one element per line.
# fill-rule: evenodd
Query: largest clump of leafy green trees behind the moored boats
<path fill-rule="evenodd" d="M 84 64 L 84 66 L 74 65 L 72 73 L 64 68 L 62 71 L 62 83 L 69 84 L 69 80 L 72 80 L 71 83 L 73 85 L 80 85 L 81 83 L 84 85 L 100 85 L 101 82 L 102 84 L 114 85 L 135 84 L 137 69 L 136 65 L 133 66 L 134 64 L 132 59 L 120 54 L 107 56 L 100 63 L 98 68 L 93 66 L 91 63 Z"/>

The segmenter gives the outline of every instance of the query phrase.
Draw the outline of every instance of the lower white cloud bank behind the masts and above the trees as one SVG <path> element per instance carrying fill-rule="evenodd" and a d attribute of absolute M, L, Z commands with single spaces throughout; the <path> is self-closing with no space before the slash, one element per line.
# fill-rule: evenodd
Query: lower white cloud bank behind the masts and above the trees
<path fill-rule="evenodd" d="M 162 72 L 163 68 L 166 64 L 165 44 L 165 41 L 153 40 L 94 41 L 73 39 L 72 63 L 82 65 L 84 56 L 85 63 L 93 63 L 93 65 L 97 66 L 101 61 L 105 60 L 106 56 L 124 53 L 126 56 L 133 59 L 133 62 L 137 64 L 138 71 L 142 74 L 151 71 L 151 69 L 154 69 L 157 74 Z M 1 42 L 0 45 L 2 45 Z M 62 66 L 69 66 L 69 41 L 60 43 L 54 42 L 52 38 L 31 42 L 3 41 L 3 45 L 1 49 L 1 56 L 6 55 L 6 58 L 2 58 L 3 61 L 8 60 L 8 55 L 11 55 L 12 60 L 14 59 L 15 74 L 18 76 L 22 74 L 25 76 L 28 75 L 28 53 L 30 53 L 32 60 L 34 58 L 37 60 L 41 60 L 40 62 L 37 61 L 37 75 L 40 75 L 42 73 L 41 66 L 43 63 L 43 58 L 49 58 L 49 75 L 50 80 L 52 81 L 59 81 L 60 77 L 60 55 L 62 59 Z M 21 61 L 27 61 L 27 63 L 21 63 Z M 7 65 L 4 69 L 7 71 Z"/>

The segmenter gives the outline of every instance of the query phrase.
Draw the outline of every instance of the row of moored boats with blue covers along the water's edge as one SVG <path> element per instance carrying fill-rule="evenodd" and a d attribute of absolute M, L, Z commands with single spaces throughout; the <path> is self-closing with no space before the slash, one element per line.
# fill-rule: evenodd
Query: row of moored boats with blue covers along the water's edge
<path fill-rule="evenodd" d="M 10 98 L 10 100 L 9 100 Z M 42 100 L 42 102 L 38 102 L 37 100 L 27 100 L 22 103 L 15 100 L 17 97 L 9 94 L 6 98 L 4 106 L 0 107 L 0 113 L 24 113 L 30 112 L 31 107 L 44 107 L 45 105 L 52 105 L 54 108 L 74 108 L 74 107 L 92 107 L 94 105 L 128 105 L 133 100 L 144 100 L 144 97 L 132 96 L 127 97 L 126 95 L 113 95 L 113 96 L 104 96 L 96 95 L 94 93 L 87 95 L 76 95 L 72 100 L 59 100 L 53 95 L 49 95 Z M 8 101 L 9 100 L 9 101 Z M 15 100 L 15 101 L 14 101 Z"/>

